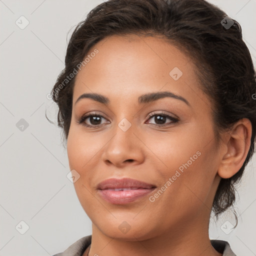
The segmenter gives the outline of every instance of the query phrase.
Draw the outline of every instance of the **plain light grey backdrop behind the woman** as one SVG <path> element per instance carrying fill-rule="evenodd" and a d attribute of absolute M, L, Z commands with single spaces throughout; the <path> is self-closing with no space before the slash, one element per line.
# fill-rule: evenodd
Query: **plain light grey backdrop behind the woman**
<path fill-rule="evenodd" d="M 0 0 L 1 256 L 53 255 L 91 234 L 90 219 L 66 177 L 60 129 L 45 111 L 56 122 L 47 94 L 64 67 L 68 31 L 101 2 Z M 255 65 L 256 0 L 210 2 L 241 24 Z M 209 228 L 210 238 L 227 240 L 237 256 L 256 255 L 255 160 L 254 155 L 238 187 L 237 227 L 223 231 L 234 224 L 226 212 L 217 222 L 211 219 Z"/>

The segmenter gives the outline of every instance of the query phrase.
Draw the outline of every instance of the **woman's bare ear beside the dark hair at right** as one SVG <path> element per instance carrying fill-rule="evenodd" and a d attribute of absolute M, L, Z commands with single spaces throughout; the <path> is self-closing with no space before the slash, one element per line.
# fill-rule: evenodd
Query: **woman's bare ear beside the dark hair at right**
<path fill-rule="evenodd" d="M 218 175 L 222 178 L 230 178 L 242 166 L 250 147 L 251 122 L 242 118 L 233 124 L 231 130 L 226 131 L 225 150 L 218 166 Z"/>

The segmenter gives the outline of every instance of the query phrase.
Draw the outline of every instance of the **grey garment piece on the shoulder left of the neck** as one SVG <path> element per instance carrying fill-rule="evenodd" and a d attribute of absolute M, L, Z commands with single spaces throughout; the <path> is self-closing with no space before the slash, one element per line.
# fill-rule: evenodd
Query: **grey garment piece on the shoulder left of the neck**
<path fill-rule="evenodd" d="M 91 243 L 91 235 L 83 236 L 76 242 L 72 243 L 67 249 L 63 252 L 54 254 L 52 256 L 82 256 L 84 250 Z"/>

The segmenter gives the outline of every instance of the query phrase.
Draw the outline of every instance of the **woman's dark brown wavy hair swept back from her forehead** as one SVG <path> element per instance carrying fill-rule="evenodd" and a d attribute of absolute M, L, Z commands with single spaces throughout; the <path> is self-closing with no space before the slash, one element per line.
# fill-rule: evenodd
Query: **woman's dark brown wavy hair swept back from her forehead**
<path fill-rule="evenodd" d="M 224 27 L 221 20 L 227 23 L 226 18 L 224 11 L 205 0 L 108 0 L 93 8 L 72 32 L 65 67 L 51 90 L 65 140 L 76 76 L 66 79 L 93 45 L 111 35 L 161 36 L 192 60 L 199 86 L 212 102 L 217 141 L 221 131 L 241 118 L 248 118 L 252 125 L 250 147 L 242 167 L 232 177 L 221 178 L 217 187 L 211 210 L 218 218 L 235 201 L 235 184 L 254 152 L 256 133 L 255 70 L 239 23 L 229 18 L 233 24 Z M 235 211 L 234 215 L 237 225 Z"/>

